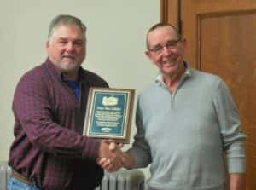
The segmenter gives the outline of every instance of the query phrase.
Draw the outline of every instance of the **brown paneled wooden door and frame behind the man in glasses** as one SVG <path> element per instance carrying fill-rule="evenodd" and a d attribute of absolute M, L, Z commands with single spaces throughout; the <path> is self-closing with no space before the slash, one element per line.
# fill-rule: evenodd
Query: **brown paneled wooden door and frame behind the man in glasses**
<path fill-rule="evenodd" d="M 190 66 L 218 74 L 230 87 L 247 135 L 247 190 L 255 190 L 256 1 L 162 0 L 161 20 L 182 26 Z"/>

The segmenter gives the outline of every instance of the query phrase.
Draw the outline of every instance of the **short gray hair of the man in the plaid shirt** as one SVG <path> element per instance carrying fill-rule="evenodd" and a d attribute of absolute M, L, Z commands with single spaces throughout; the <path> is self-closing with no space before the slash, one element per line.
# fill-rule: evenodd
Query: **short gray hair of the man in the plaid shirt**
<path fill-rule="evenodd" d="M 86 26 L 84 25 L 84 23 L 81 20 L 79 20 L 79 18 L 74 17 L 72 15 L 68 15 L 68 14 L 60 14 L 60 15 L 57 15 L 49 24 L 49 32 L 48 32 L 48 40 L 49 41 L 55 32 L 55 28 L 57 26 L 61 26 L 61 25 L 79 26 L 81 31 L 83 32 L 84 40 L 86 39 L 86 37 L 85 37 Z"/>

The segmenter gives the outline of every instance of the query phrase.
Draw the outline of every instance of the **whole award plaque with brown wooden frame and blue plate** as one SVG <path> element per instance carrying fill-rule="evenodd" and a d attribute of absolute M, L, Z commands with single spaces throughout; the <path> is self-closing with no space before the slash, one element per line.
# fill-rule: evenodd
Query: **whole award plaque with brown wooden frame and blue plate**
<path fill-rule="evenodd" d="M 129 143 L 135 89 L 90 88 L 84 135 Z"/>

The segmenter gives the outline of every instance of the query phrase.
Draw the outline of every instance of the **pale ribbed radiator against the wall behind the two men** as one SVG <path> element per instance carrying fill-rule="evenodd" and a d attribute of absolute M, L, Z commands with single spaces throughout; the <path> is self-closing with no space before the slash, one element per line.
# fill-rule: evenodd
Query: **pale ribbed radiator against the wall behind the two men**
<path fill-rule="evenodd" d="M 0 162 L 0 190 L 7 190 L 7 180 L 11 170 L 6 162 Z M 119 170 L 108 173 L 95 190 L 144 190 L 145 176 L 141 170 Z M 84 189 L 85 190 L 85 189 Z"/>

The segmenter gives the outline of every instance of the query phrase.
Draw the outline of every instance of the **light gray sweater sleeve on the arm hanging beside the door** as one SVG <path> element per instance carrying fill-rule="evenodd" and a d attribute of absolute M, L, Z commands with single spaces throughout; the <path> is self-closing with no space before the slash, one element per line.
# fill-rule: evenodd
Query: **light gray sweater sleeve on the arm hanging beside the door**
<path fill-rule="evenodd" d="M 246 137 L 241 130 L 241 120 L 230 90 L 222 80 L 218 83 L 214 105 L 227 156 L 228 171 L 229 173 L 244 173 L 246 168 L 244 141 Z"/>

